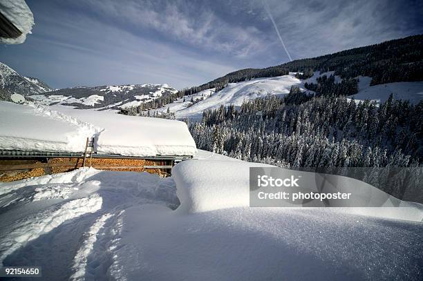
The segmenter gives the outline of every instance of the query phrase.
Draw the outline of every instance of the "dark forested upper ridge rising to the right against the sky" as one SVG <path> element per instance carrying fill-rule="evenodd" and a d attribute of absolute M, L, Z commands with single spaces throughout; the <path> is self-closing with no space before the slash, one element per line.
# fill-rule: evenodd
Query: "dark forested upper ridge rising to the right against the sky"
<path fill-rule="evenodd" d="M 230 72 L 223 77 L 214 79 L 200 86 L 185 88 L 178 93 L 160 97 L 140 107 L 132 108 L 131 112 L 141 113 L 142 110 L 160 108 L 186 95 L 193 95 L 202 90 L 215 88 L 216 92 L 225 88 L 228 83 L 250 80 L 260 77 L 276 77 L 288 75 L 289 72 L 299 72 L 297 78 L 307 79 L 314 71 L 334 71 L 344 83 L 348 84 L 348 91 L 337 88 L 339 95 L 353 95 L 357 92 L 356 77 L 359 75 L 372 77 L 370 85 L 385 84 L 397 81 L 422 81 L 423 77 L 423 35 L 415 35 L 403 39 L 395 39 L 383 43 L 353 48 L 330 55 L 295 61 L 272 66 L 269 68 L 245 68 Z M 335 88 L 335 81 L 326 90 Z M 345 85 L 342 85 L 345 86 Z M 317 86 L 315 86 L 317 87 Z M 310 86 L 310 90 L 313 86 Z M 319 91 L 317 91 L 319 92 Z M 320 91 L 321 92 L 321 91 Z"/>

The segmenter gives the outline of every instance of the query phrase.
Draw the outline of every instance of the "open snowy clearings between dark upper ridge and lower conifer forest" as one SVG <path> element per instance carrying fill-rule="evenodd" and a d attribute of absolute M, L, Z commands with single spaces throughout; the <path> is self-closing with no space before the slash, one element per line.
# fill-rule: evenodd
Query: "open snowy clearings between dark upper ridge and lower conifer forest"
<path fill-rule="evenodd" d="M 185 99 L 178 99 L 171 104 L 167 104 L 162 108 L 150 110 L 151 113 L 175 113 L 178 119 L 190 118 L 201 119 L 204 110 L 218 108 L 223 106 L 241 106 L 243 101 L 265 97 L 267 95 L 278 95 L 283 97 L 290 93 L 292 86 L 298 86 L 301 90 L 313 93 L 304 87 L 306 83 L 317 83 L 317 78 L 326 75 L 334 75 L 334 71 L 314 72 L 314 75 L 308 79 L 297 79 L 295 73 L 289 75 L 270 78 L 257 78 L 250 81 L 242 81 L 237 83 L 229 83 L 222 90 L 215 92 L 213 89 L 203 90 L 194 95 L 187 95 Z M 377 103 L 381 103 L 388 99 L 391 93 L 395 99 L 407 99 L 412 104 L 417 104 L 423 99 L 423 81 L 422 82 L 396 82 L 370 86 L 371 77 L 359 78 L 359 93 L 352 95 L 357 101 L 370 99 Z M 335 82 L 340 83 L 341 77 L 335 75 Z M 184 101 L 185 100 L 185 101 Z M 192 102 L 192 101 L 194 102 Z"/>

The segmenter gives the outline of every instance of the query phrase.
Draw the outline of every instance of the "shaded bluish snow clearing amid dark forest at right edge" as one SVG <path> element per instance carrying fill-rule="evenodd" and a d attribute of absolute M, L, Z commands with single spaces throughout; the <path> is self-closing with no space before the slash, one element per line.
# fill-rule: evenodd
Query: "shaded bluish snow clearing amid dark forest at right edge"
<path fill-rule="evenodd" d="M 371 80 L 371 77 L 359 77 L 359 93 L 351 97 L 357 100 L 370 99 L 377 104 L 386 101 L 391 93 L 393 93 L 394 99 L 406 99 L 411 104 L 417 104 L 423 99 L 423 81 L 370 86 Z"/>

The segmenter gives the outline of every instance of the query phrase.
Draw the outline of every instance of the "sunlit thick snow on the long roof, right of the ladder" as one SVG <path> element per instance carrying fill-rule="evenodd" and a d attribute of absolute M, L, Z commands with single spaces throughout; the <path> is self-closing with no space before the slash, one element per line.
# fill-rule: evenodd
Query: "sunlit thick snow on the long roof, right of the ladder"
<path fill-rule="evenodd" d="M 118 115 L 111 111 L 75 110 L 67 106 L 53 108 L 103 128 L 97 137 L 97 153 L 131 156 L 196 153 L 196 143 L 184 122 Z"/>

